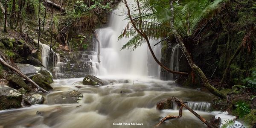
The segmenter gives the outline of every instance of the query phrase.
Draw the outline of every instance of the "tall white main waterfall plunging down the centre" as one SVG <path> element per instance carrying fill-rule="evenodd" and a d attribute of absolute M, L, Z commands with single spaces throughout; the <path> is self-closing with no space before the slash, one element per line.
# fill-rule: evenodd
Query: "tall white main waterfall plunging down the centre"
<path fill-rule="evenodd" d="M 128 0 L 131 3 L 132 0 Z M 131 4 L 130 4 L 131 5 Z M 118 41 L 119 35 L 128 23 L 123 11 L 126 7 L 123 3 L 114 10 L 110 17 L 108 27 L 96 29 L 100 42 L 100 63 L 99 75 L 137 75 L 137 76 L 156 76 L 159 77 L 160 68 L 153 62 L 153 57 L 148 52 L 146 44 L 138 47 L 134 51 L 122 49 L 130 38 L 122 38 Z M 151 44 L 156 41 L 151 41 Z M 160 59 L 160 45 L 152 47 L 157 58 Z M 97 52 L 97 48 L 95 48 Z"/>

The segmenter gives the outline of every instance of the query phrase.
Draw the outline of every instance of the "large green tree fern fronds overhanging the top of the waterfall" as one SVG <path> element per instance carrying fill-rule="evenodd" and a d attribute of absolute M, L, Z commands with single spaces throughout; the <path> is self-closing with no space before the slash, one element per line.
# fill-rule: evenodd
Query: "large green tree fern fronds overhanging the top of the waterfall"
<path fill-rule="evenodd" d="M 206 21 L 214 17 L 222 7 L 221 3 L 226 0 L 178 0 L 174 5 L 175 24 L 174 27 L 178 34 L 189 43 L 195 43 L 198 35 L 206 26 Z M 131 16 L 134 22 L 151 40 L 172 35 L 170 28 L 170 19 L 172 13 L 170 10 L 169 0 L 140 0 L 143 10 L 138 14 L 138 7 L 133 5 Z M 135 7 L 134 7 L 135 6 Z M 131 7 L 130 7 L 131 8 Z M 128 19 L 128 17 L 126 18 Z M 142 20 L 142 21 L 140 21 Z M 120 38 L 126 37 L 131 40 L 125 44 L 122 49 L 136 49 L 145 43 L 145 40 L 129 25 L 125 27 Z"/>

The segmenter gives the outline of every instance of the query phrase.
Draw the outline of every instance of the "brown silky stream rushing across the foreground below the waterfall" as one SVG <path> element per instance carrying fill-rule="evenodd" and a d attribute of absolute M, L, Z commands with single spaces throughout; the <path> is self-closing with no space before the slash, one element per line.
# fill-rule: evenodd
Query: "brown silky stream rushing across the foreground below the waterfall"
<path fill-rule="evenodd" d="M 156 109 L 157 102 L 171 96 L 188 101 L 189 107 L 207 120 L 214 115 L 208 112 L 210 108 L 207 102 L 215 96 L 178 87 L 173 81 L 136 76 L 130 76 L 129 79 L 120 76 L 99 76 L 99 78 L 115 80 L 118 83 L 92 87 L 82 85 L 82 78 L 55 80 L 52 84 L 54 90 L 45 95 L 44 105 L 0 111 L 0 125 L 4 128 L 151 128 L 159 122 L 161 116 L 178 115 L 178 110 Z M 122 83 L 127 80 L 128 83 Z M 56 95 L 72 90 L 83 94 L 78 104 L 52 104 L 51 101 Z M 38 115 L 37 111 L 41 114 Z M 113 125 L 119 122 L 143 125 Z M 183 111 L 180 119 L 169 120 L 160 128 L 170 128 L 170 126 L 205 128 L 205 125 L 188 110 Z"/>

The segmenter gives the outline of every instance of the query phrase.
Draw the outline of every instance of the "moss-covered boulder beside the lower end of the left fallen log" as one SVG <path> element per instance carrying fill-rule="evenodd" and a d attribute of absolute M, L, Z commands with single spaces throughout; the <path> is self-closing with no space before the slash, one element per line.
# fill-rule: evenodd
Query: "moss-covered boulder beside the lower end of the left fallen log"
<path fill-rule="evenodd" d="M 36 74 L 35 76 L 33 76 L 32 80 L 47 91 L 53 89 L 50 86 L 50 84 L 53 83 L 53 80 L 52 78 L 49 78 L 47 75 Z"/>

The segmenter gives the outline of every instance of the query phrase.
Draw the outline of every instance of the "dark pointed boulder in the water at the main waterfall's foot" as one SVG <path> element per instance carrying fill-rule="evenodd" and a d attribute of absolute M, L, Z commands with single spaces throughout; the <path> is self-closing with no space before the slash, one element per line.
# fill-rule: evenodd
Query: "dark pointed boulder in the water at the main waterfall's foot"
<path fill-rule="evenodd" d="M 99 79 L 96 76 L 87 75 L 83 79 L 83 84 L 95 86 L 95 85 L 107 85 L 108 83 L 103 81 L 102 79 Z"/>

